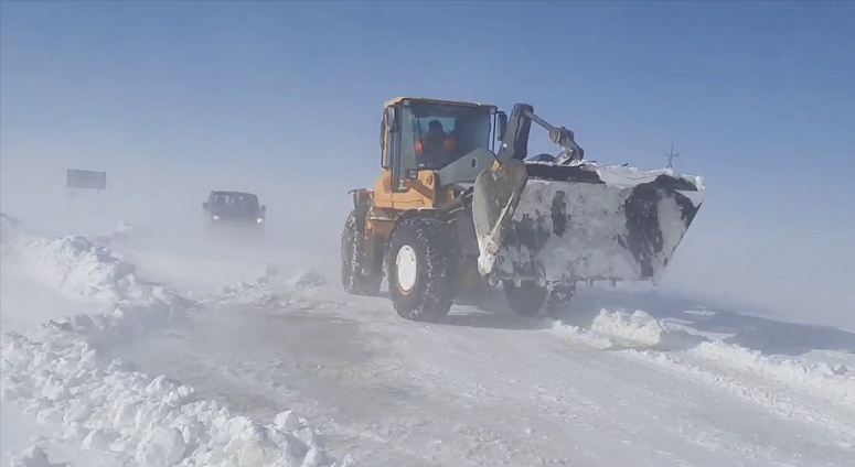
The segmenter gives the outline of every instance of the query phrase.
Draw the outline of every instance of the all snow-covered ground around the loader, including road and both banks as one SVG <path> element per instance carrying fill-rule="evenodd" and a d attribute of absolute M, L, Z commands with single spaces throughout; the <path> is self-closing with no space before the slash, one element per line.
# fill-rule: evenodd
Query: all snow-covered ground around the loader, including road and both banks
<path fill-rule="evenodd" d="M 855 450 L 845 333 L 598 287 L 559 321 L 498 293 L 428 325 L 293 264 L 234 263 L 191 300 L 171 279 L 211 287 L 227 262 L 21 226 L 3 241 L 3 416 L 52 431 L 17 442 L 31 463 L 833 467 Z"/>

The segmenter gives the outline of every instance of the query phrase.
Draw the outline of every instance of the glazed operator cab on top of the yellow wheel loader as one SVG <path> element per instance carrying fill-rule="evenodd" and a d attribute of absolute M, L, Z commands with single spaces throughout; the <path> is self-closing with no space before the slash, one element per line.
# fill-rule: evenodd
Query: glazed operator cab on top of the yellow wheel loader
<path fill-rule="evenodd" d="M 386 104 L 381 121 L 383 169 L 392 193 L 406 181 L 434 173 L 474 150 L 494 151 L 507 118 L 495 106 L 425 98 Z"/>

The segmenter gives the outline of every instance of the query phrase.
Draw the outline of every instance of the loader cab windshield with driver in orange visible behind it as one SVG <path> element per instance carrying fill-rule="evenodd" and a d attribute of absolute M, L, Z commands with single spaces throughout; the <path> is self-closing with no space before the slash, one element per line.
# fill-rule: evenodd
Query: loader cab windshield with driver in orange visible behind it
<path fill-rule="evenodd" d="M 405 108 L 404 124 L 419 167 L 440 169 L 478 148 L 490 149 L 488 108 L 416 104 Z"/>

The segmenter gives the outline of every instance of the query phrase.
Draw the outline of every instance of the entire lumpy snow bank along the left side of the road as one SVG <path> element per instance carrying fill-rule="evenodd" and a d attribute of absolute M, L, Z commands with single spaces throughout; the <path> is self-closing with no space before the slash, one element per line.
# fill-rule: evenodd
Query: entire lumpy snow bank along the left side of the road
<path fill-rule="evenodd" d="M 84 237 L 26 238 L 3 216 L 3 245 L 67 296 L 100 304 L 104 313 L 41 325 L 31 338 L 4 336 L 2 398 L 40 422 L 64 427 L 64 441 L 115 456 L 117 464 L 160 466 L 327 466 L 323 434 L 284 412 L 260 424 L 233 415 L 192 388 L 163 376 L 130 371 L 103 357 L 106 336 L 145 333 L 192 304 L 137 278 L 133 268 Z M 19 237 L 20 235 L 20 237 Z M 10 241 L 7 241 L 10 240 Z M 21 466 L 50 465 L 38 448 Z M 29 463 L 29 464 L 28 464 Z M 333 464 L 334 465 L 334 464 Z"/>

